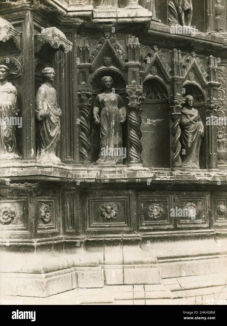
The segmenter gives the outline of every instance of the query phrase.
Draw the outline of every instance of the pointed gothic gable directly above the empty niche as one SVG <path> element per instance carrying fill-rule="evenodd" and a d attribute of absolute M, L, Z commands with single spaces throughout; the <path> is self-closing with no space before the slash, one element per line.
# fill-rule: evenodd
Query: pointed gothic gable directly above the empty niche
<path fill-rule="evenodd" d="M 171 68 L 168 66 L 165 58 L 165 54 L 158 50 L 158 48 L 154 45 L 153 50 L 151 50 L 150 63 L 147 64 L 145 68 L 145 76 L 147 75 L 157 75 L 163 81 L 170 82 L 170 71 Z"/>

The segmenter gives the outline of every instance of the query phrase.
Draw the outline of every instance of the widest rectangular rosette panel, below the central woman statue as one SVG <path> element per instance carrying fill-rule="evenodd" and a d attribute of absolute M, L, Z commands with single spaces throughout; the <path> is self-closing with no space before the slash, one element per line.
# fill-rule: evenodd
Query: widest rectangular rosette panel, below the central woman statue
<path fill-rule="evenodd" d="M 85 220 L 86 231 L 130 230 L 130 195 L 85 195 Z"/>

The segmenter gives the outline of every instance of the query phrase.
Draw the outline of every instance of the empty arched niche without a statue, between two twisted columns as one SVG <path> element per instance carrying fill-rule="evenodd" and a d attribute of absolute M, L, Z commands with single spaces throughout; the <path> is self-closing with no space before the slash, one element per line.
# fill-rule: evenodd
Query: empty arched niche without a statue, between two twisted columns
<path fill-rule="evenodd" d="M 144 166 L 169 168 L 169 91 L 160 78 L 148 77 L 144 79 L 143 92 L 146 94 L 141 116 Z"/>

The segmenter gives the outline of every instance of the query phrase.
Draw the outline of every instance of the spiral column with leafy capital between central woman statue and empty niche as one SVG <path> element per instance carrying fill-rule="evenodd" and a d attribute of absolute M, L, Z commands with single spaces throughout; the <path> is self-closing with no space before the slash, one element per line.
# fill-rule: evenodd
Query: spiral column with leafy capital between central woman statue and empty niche
<path fill-rule="evenodd" d="M 130 150 L 129 150 L 129 157 L 130 157 L 130 164 L 141 164 L 143 163 L 141 153 L 142 153 L 142 132 L 140 129 L 141 126 L 141 105 L 142 101 L 145 99 L 142 96 L 142 87 L 130 87 L 127 86 L 126 94 L 128 95 L 127 98 L 129 100 L 128 107 L 130 109 L 129 113 L 129 122 L 130 122 L 130 132 L 129 132 L 129 140 L 131 142 Z"/>

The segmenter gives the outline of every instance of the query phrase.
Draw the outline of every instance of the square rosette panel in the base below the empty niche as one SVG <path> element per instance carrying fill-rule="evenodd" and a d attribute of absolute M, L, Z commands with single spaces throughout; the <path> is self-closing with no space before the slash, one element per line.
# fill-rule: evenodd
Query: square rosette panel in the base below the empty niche
<path fill-rule="evenodd" d="M 147 193 L 138 195 L 138 211 L 140 230 L 156 228 L 173 228 L 170 216 L 172 196 Z"/>

